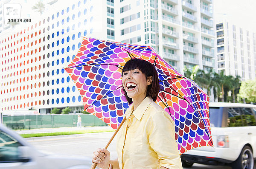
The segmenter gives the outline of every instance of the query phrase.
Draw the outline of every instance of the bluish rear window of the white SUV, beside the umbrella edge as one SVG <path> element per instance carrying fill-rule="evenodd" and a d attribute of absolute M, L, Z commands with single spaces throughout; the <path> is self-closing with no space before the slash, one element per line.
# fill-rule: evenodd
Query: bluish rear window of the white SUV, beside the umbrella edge
<path fill-rule="evenodd" d="M 209 107 L 210 127 L 221 127 L 222 107 Z"/>

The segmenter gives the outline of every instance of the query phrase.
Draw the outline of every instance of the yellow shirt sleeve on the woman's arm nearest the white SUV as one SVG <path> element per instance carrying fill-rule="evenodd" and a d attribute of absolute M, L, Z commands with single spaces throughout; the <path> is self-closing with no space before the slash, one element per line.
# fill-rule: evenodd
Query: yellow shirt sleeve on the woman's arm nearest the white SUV
<path fill-rule="evenodd" d="M 147 128 L 149 144 L 160 160 L 159 167 L 182 169 L 174 124 L 170 115 L 167 112 L 157 111 L 151 116 Z"/>

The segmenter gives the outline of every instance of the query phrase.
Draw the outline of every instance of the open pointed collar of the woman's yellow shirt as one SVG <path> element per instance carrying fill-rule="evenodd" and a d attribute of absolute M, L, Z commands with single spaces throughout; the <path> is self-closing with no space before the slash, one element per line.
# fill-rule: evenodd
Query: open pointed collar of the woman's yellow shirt
<path fill-rule="evenodd" d="M 134 110 L 134 105 L 131 104 L 131 106 L 126 110 L 125 112 L 125 116 L 128 119 L 131 115 L 131 113 L 140 121 L 140 119 L 142 118 L 143 114 L 145 113 L 145 110 L 148 108 L 149 104 L 152 102 L 153 100 L 151 99 L 151 97 L 146 97 L 141 103 L 140 105 L 137 107 L 136 110 Z"/>

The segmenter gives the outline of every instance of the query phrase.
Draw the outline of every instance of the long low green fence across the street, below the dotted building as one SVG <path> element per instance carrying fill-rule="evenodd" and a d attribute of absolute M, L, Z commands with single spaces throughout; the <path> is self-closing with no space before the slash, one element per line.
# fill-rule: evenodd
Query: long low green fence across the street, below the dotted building
<path fill-rule="evenodd" d="M 107 126 L 105 122 L 91 114 L 80 114 L 82 126 Z M 3 116 L 3 124 L 23 123 L 25 129 L 75 127 L 78 115 L 55 114 L 55 115 L 19 115 Z"/>

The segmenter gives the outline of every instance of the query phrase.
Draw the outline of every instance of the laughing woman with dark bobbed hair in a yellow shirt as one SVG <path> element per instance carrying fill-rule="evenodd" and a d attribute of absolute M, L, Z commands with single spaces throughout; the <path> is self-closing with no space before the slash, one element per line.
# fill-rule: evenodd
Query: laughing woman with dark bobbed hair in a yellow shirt
<path fill-rule="evenodd" d="M 97 149 L 92 162 L 103 169 L 182 169 L 171 116 L 155 103 L 159 79 L 154 66 L 131 59 L 122 70 L 123 93 L 130 105 L 127 120 L 117 133 L 118 159 Z"/>

